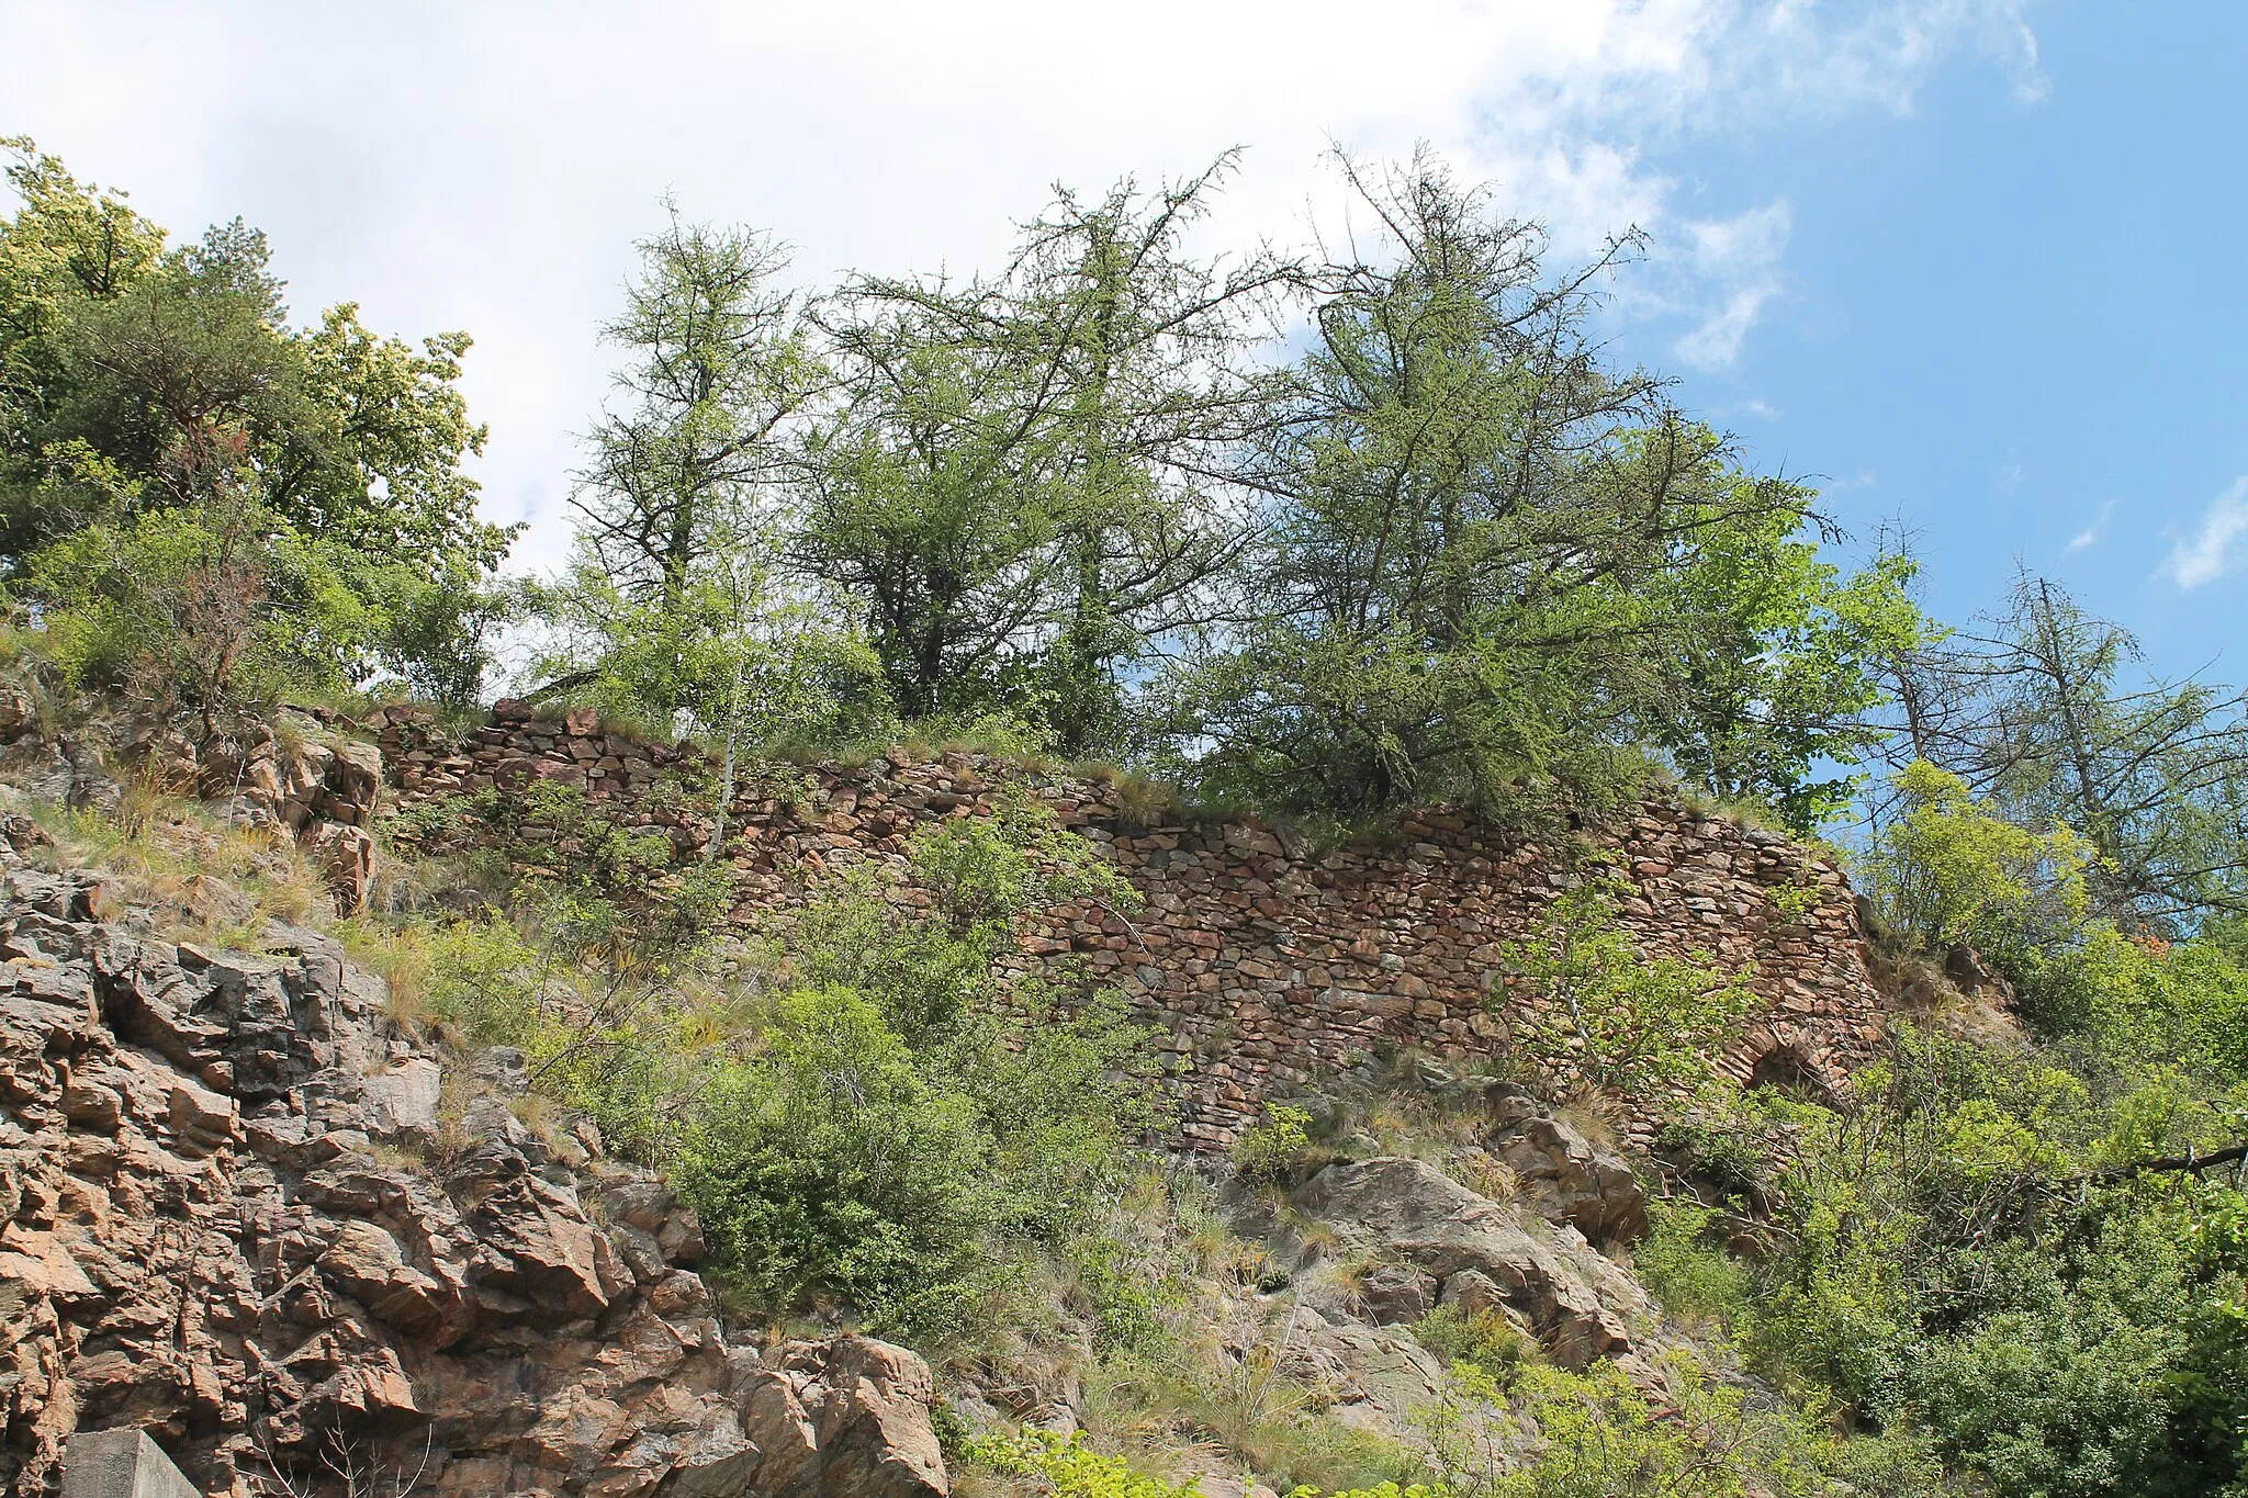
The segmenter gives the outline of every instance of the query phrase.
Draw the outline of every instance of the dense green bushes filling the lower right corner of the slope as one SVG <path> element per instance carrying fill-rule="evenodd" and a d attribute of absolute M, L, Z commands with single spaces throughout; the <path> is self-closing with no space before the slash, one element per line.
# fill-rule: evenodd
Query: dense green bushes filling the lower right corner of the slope
<path fill-rule="evenodd" d="M 2239 1190 L 2104 1175 L 2239 1136 L 2237 1074 L 2160 1051 L 1904 1029 L 1850 1112 L 1735 1116 L 1785 1159 L 1776 1258 L 1713 1260 L 1699 1211 L 1659 1213 L 1641 1269 L 1769 1374 L 1915 1431 L 1994 1494 L 2232 1494 Z"/>

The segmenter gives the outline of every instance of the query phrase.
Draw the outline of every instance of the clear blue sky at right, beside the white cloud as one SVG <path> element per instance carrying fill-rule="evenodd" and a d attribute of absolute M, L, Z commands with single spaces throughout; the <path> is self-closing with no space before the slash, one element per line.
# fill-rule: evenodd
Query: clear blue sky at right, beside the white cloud
<path fill-rule="evenodd" d="M 1909 115 L 1657 153 L 1792 222 L 1738 362 L 1684 366 L 1684 393 L 1762 463 L 1828 476 L 1852 528 L 1918 532 L 1940 613 L 1989 606 L 2021 564 L 2160 669 L 2239 681 L 2248 528 L 2192 557 L 2221 496 L 2248 517 L 2248 7 L 2032 20 L 2028 88 L 1954 56 Z"/>

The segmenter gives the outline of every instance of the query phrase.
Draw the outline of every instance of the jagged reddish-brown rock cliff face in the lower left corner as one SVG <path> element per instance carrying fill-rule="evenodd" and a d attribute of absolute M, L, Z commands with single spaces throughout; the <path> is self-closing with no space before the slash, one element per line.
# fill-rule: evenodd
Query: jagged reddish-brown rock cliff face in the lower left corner
<path fill-rule="evenodd" d="M 38 838 L 0 817 L 0 1489 L 137 1424 L 238 1498 L 946 1491 L 928 1368 L 728 1334 L 692 1213 L 528 1130 L 515 1053 L 452 1074 L 330 939 L 162 941 Z"/>

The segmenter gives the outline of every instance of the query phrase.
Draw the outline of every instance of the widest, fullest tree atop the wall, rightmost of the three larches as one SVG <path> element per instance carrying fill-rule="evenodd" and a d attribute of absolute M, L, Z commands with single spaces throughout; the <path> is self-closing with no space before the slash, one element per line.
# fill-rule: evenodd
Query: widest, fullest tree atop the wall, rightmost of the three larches
<path fill-rule="evenodd" d="M 1252 622 L 1185 687 L 1218 791 L 1297 806 L 1612 788 L 1668 746 L 1810 817 L 1857 746 L 1886 579 L 1796 532 L 1810 494 L 1740 472 L 1592 312 L 1637 247 L 1553 276 L 1533 225 L 1434 159 L 1344 173 L 1378 245 L 1315 276 L 1308 353 L 1245 458 Z M 1708 645 L 1702 645 L 1702 642 Z"/>

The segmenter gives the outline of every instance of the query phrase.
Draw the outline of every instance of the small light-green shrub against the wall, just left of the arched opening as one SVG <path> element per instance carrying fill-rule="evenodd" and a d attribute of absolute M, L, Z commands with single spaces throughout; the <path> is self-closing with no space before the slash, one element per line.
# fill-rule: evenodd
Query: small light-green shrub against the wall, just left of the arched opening
<path fill-rule="evenodd" d="M 1515 1047 L 1549 1074 L 1619 1098 L 1706 1094 L 1711 1058 L 1756 995 L 1704 963 L 1643 957 L 1616 921 L 1632 894 L 1621 874 L 1592 865 L 1531 941 L 1504 946 L 1506 972 L 1533 1002 L 1515 1011 L 1506 999 Z"/>

